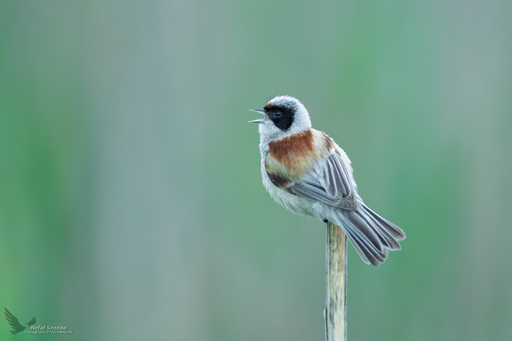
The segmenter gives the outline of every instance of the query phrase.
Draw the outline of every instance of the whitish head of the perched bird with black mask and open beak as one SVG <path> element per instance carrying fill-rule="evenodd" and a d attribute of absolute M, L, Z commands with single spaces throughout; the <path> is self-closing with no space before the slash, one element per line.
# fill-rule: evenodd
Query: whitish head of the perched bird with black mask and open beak
<path fill-rule="evenodd" d="M 249 122 L 260 123 L 260 136 L 268 141 L 281 140 L 311 128 L 308 110 L 295 97 L 274 97 L 263 109 L 252 111 L 265 115 L 264 119 Z"/>

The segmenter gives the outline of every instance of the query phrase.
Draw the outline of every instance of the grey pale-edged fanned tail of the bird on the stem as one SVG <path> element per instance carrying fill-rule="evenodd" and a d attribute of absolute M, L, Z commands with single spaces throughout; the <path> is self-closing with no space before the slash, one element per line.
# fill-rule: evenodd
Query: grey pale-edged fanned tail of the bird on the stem
<path fill-rule="evenodd" d="M 357 253 L 366 264 L 378 267 L 388 258 L 388 250 L 399 250 L 406 234 L 392 222 L 373 212 L 362 201 L 357 211 L 339 210 L 334 221 L 342 226 Z"/>

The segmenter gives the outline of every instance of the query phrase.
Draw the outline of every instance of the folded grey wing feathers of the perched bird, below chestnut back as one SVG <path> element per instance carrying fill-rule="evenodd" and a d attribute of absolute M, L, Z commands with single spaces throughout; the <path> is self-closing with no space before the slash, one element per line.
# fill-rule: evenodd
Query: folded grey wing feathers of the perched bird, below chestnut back
<path fill-rule="evenodd" d="M 327 203 L 349 211 L 357 210 L 355 188 L 351 174 L 336 149 L 327 160 L 319 163 L 302 181 L 287 190 L 310 200 Z"/>

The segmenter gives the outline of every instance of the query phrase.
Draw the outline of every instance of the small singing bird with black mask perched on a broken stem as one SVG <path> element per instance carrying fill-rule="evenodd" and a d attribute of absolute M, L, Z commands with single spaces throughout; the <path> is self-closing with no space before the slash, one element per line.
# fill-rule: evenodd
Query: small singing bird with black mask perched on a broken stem
<path fill-rule="evenodd" d="M 250 110 L 265 116 L 249 122 L 259 124 L 263 185 L 275 202 L 340 226 L 366 264 L 378 267 L 401 248 L 405 233 L 362 201 L 347 154 L 311 127 L 298 99 L 277 96 Z"/>

